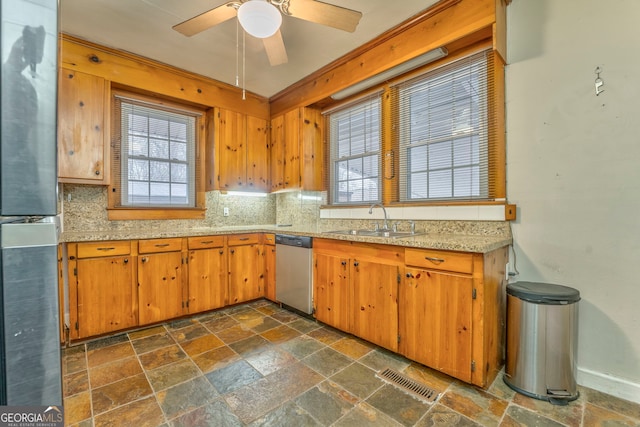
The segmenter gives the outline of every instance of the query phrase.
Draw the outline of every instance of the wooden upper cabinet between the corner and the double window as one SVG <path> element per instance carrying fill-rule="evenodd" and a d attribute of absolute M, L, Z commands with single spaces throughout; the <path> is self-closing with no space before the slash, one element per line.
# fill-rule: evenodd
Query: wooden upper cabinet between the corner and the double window
<path fill-rule="evenodd" d="M 297 108 L 271 120 L 271 190 L 322 190 L 324 122 L 320 110 Z"/>

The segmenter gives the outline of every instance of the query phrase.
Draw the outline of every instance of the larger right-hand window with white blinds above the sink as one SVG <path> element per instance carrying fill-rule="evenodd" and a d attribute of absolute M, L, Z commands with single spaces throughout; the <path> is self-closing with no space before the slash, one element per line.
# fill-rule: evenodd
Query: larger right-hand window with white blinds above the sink
<path fill-rule="evenodd" d="M 489 199 L 490 64 L 480 53 L 396 86 L 401 202 Z"/>

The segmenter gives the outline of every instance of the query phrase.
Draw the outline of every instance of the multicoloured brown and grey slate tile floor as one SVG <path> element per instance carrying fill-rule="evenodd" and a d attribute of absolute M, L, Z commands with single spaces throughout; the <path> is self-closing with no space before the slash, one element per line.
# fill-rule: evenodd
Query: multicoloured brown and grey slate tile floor
<path fill-rule="evenodd" d="M 553 406 L 501 377 L 481 390 L 266 300 L 72 346 L 63 364 L 72 426 L 640 426 L 638 404 L 581 388 Z"/>

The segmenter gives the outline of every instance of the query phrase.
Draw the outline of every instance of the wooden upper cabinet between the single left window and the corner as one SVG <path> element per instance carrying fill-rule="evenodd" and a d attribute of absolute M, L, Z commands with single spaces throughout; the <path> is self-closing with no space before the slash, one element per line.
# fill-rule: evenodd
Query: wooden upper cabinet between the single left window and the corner
<path fill-rule="evenodd" d="M 225 109 L 214 113 L 214 173 L 220 190 L 269 190 L 268 123 Z M 209 162 L 208 162 L 209 163 Z M 209 174 L 210 175 L 210 174 Z"/>

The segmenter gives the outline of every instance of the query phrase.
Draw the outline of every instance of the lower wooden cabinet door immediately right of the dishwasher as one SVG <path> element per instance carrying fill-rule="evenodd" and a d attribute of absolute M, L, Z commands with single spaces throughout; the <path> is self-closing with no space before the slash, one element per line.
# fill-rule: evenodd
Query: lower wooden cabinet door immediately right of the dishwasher
<path fill-rule="evenodd" d="M 315 254 L 313 286 L 316 319 L 350 332 L 349 260 Z"/>

